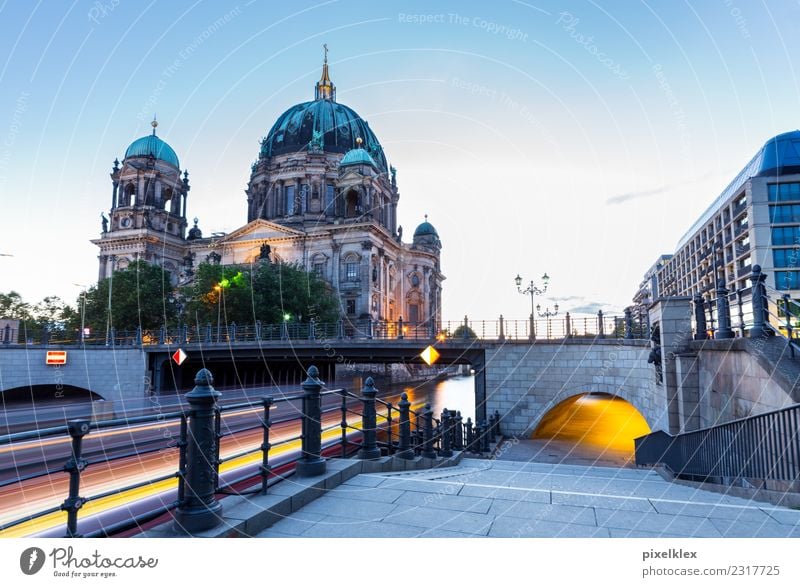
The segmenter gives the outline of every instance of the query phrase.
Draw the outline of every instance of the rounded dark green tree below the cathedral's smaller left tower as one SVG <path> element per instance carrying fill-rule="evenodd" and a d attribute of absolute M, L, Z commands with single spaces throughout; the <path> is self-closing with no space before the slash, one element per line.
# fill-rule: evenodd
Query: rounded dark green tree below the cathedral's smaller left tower
<path fill-rule="evenodd" d="M 83 303 L 79 298 L 78 307 Z M 175 323 L 178 315 L 169 273 L 145 261 L 114 271 L 89 288 L 85 304 L 85 324 L 96 333 L 104 332 L 107 325 L 117 330 L 158 328 Z"/>

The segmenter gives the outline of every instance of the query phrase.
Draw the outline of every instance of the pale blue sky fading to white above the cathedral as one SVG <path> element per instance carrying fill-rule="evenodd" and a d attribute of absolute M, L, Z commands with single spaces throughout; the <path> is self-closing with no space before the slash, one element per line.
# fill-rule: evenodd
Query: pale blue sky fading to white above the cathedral
<path fill-rule="evenodd" d="M 217 24 L 215 24 L 217 23 Z M 443 240 L 445 318 L 629 303 L 771 136 L 798 128 L 800 3 L 0 2 L 0 291 L 96 279 L 115 157 L 159 135 L 206 231 L 246 220 L 258 141 L 338 99 L 398 169 L 399 221 Z"/>

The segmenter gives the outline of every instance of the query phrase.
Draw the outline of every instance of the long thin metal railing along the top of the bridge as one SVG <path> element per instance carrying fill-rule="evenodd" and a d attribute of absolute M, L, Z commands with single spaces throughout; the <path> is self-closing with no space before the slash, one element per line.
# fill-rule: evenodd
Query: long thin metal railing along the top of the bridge
<path fill-rule="evenodd" d="M 439 342 L 464 341 L 533 341 L 568 338 L 647 338 L 649 325 L 645 318 L 630 314 L 619 316 L 598 312 L 595 316 L 547 317 L 525 320 L 474 320 L 405 322 L 366 319 L 342 319 L 337 322 L 298 322 L 279 324 L 238 325 L 184 324 L 156 329 L 120 330 L 84 334 L 46 328 L 18 330 L 10 327 L 0 332 L 0 348 L 19 345 L 86 345 L 107 347 L 143 347 L 153 345 L 270 343 L 285 341 L 329 340 L 424 340 Z"/>

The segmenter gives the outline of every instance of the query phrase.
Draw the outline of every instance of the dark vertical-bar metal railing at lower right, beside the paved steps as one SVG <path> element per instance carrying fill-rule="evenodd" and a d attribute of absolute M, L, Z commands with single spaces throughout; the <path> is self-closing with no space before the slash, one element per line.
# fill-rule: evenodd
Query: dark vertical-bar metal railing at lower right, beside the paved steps
<path fill-rule="evenodd" d="M 679 476 L 796 483 L 800 404 L 676 436 L 653 432 L 635 446 L 637 465 L 663 464 Z"/>

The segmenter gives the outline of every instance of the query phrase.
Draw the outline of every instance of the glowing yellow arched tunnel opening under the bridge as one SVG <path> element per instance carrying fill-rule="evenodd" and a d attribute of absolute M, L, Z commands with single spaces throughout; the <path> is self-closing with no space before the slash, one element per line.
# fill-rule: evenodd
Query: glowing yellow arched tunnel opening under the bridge
<path fill-rule="evenodd" d="M 650 426 L 631 403 L 610 393 L 580 393 L 553 406 L 531 434 L 575 455 L 615 461 L 633 457 L 634 439 Z"/>

